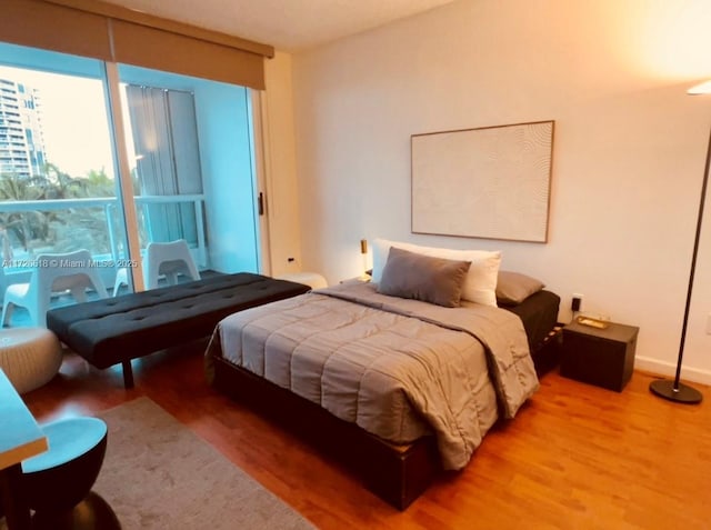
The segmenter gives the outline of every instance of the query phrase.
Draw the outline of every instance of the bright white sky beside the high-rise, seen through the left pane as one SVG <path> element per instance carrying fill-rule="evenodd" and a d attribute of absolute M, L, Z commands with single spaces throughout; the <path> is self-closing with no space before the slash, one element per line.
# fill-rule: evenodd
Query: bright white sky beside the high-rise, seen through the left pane
<path fill-rule="evenodd" d="M 98 79 L 0 66 L 0 78 L 38 89 L 47 159 L 72 177 L 106 170 L 113 178 L 113 158 L 103 87 Z"/>

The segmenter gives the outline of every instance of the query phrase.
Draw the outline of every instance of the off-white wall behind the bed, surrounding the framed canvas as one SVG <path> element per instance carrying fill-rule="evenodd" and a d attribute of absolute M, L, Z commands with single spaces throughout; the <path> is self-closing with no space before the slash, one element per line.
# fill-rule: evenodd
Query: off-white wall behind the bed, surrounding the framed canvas
<path fill-rule="evenodd" d="M 711 124 L 708 0 L 463 0 L 293 58 L 301 252 L 330 282 L 359 240 L 501 249 L 583 310 L 639 326 L 673 373 Z M 555 120 L 547 244 L 410 233 L 410 136 Z M 711 219 L 709 219 L 711 222 Z M 711 232 L 711 228 L 707 230 Z M 711 382 L 711 234 L 684 374 Z"/>

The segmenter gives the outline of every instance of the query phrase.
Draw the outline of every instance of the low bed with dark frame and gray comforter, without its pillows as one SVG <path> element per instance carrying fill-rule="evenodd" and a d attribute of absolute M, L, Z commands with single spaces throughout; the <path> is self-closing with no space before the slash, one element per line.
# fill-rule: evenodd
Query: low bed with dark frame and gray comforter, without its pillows
<path fill-rule="evenodd" d="M 530 352 L 551 347 L 560 299 L 537 287 L 500 300 L 505 310 L 450 308 L 380 286 L 344 282 L 226 318 L 206 374 L 404 509 L 535 392 Z"/>

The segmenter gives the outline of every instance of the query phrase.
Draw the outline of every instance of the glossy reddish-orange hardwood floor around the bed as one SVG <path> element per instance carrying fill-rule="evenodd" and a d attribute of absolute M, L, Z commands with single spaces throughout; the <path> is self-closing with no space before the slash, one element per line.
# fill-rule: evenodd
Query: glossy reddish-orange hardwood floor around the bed
<path fill-rule="evenodd" d="M 67 354 L 60 376 L 24 396 L 39 420 L 90 414 L 148 396 L 323 529 L 711 529 L 711 392 L 681 406 L 635 372 L 622 393 L 548 373 L 515 420 L 497 426 L 469 466 L 442 477 L 407 511 L 202 374 L 203 344 L 118 369 Z M 109 434 L 110 436 L 110 434 Z M 109 441 L 110 443 L 110 441 Z"/>

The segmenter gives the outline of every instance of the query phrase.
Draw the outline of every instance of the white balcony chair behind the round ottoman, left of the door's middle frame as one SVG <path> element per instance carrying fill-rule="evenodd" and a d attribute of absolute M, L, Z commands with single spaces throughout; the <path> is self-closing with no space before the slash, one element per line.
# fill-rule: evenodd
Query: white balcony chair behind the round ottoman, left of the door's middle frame
<path fill-rule="evenodd" d="M 87 289 L 107 298 L 107 289 L 97 268 L 91 267 L 91 252 L 78 250 L 60 254 L 41 254 L 29 283 L 13 283 L 6 288 L 0 327 L 12 317 L 14 306 L 26 308 L 32 326 L 47 327 L 47 311 L 52 293 L 71 292 L 78 302 L 87 301 Z"/>

